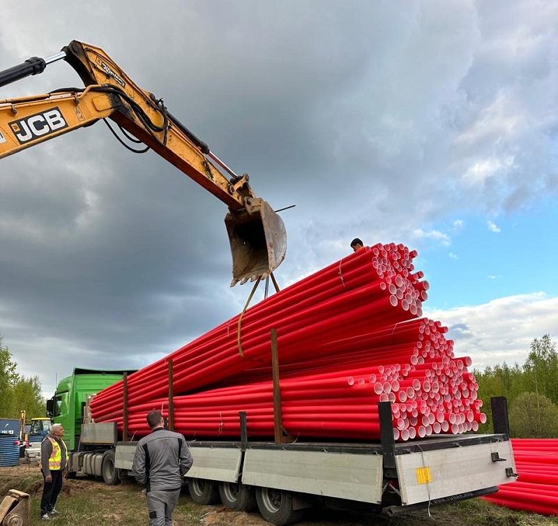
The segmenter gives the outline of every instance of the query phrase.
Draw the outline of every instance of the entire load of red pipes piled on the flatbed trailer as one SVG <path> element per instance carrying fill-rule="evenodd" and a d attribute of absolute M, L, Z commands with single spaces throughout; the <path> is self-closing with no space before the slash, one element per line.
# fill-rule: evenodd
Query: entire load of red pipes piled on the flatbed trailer
<path fill-rule="evenodd" d="M 447 328 L 421 317 L 428 282 L 406 246 L 363 248 L 273 294 L 128 377 L 128 429 L 168 407 L 187 437 L 273 436 L 271 329 L 278 333 L 282 423 L 294 437 L 377 439 L 377 403 L 391 401 L 395 437 L 463 433 L 485 421 L 469 358 Z M 98 393 L 93 418 L 123 427 L 123 383 Z"/>

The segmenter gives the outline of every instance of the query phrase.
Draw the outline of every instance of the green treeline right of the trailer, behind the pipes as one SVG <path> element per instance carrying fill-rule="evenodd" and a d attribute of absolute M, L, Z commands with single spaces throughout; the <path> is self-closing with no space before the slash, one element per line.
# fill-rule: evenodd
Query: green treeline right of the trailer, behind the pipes
<path fill-rule="evenodd" d="M 505 396 L 512 438 L 558 437 L 558 353 L 548 334 L 531 342 L 522 366 L 504 362 L 473 373 L 488 416 L 479 433 L 492 433 L 490 398 Z"/>

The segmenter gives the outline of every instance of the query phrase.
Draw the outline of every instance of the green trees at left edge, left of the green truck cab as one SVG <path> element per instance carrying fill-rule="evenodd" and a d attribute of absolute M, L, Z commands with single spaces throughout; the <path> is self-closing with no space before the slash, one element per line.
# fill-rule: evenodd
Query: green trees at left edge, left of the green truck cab
<path fill-rule="evenodd" d="M 19 419 L 22 409 L 28 419 L 45 416 L 45 399 L 38 377 L 24 377 L 16 368 L 17 363 L 0 336 L 0 418 Z"/>

